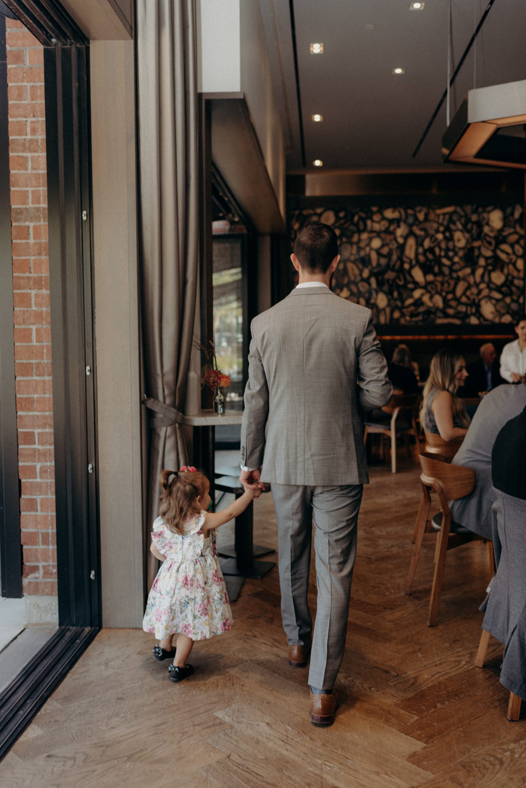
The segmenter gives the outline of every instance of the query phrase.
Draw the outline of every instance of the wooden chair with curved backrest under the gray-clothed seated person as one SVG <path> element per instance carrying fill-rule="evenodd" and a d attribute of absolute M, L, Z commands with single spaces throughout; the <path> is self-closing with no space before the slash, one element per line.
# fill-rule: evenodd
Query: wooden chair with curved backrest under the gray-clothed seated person
<path fill-rule="evenodd" d="M 420 459 L 420 466 L 422 468 L 422 473 L 420 474 L 422 499 L 420 500 L 417 522 L 415 523 L 413 534 L 415 546 L 409 566 L 405 592 L 406 594 L 410 594 L 412 590 L 424 533 L 436 533 L 428 519 L 429 510 L 431 508 L 430 492 L 434 490 L 437 496 L 439 496 L 440 509 L 442 511 L 442 527 L 438 532 L 435 548 L 435 571 L 433 574 L 431 600 L 429 602 L 428 612 L 428 626 L 435 626 L 439 612 L 440 591 L 442 589 L 444 567 L 446 564 L 446 552 L 459 545 L 465 545 L 469 541 L 487 540 L 484 540 L 483 537 L 465 528 L 461 530 L 461 533 L 451 532 L 450 530 L 451 512 L 447 502 L 448 500 L 457 500 L 457 498 L 463 498 L 469 495 L 469 492 L 472 491 L 473 485 L 475 484 L 475 471 L 472 470 L 472 468 L 450 465 L 450 463 L 446 463 L 444 459 L 439 458 L 439 456 L 432 455 L 428 452 L 420 454 L 418 459 Z M 489 545 L 491 547 L 491 574 L 493 574 L 493 545 L 491 545 L 491 542 L 489 542 Z"/>

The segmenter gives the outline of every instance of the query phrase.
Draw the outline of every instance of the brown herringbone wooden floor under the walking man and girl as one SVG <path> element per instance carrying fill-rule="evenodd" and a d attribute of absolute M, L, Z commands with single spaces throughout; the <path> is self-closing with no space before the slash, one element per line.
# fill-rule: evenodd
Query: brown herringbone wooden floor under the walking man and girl
<path fill-rule="evenodd" d="M 245 582 L 233 630 L 194 646 L 180 685 L 150 635 L 102 630 L 0 764 L 2 788 L 524 786 L 526 721 L 506 720 L 502 647 L 491 641 L 487 667 L 474 666 L 486 547 L 448 554 L 429 629 L 435 536 L 406 597 L 420 490 L 413 459 L 400 466 L 373 467 L 365 488 L 332 727 L 311 725 L 307 671 L 287 665 L 276 568 Z M 270 499 L 255 504 L 263 545 L 276 545 Z"/>

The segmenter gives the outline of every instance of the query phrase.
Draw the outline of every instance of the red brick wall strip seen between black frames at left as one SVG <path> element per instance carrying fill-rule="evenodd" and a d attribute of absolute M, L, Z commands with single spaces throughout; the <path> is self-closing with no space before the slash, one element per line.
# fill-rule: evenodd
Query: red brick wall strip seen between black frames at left
<path fill-rule="evenodd" d="M 7 23 L 9 163 L 24 595 L 57 593 L 43 47 Z"/>

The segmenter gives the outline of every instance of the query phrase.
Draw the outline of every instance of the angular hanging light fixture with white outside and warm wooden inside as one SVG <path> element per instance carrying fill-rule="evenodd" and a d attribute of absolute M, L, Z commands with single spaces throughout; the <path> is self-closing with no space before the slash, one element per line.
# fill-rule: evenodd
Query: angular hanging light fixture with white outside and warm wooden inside
<path fill-rule="evenodd" d="M 469 91 L 442 153 L 445 162 L 526 169 L 526 80 Z"/>

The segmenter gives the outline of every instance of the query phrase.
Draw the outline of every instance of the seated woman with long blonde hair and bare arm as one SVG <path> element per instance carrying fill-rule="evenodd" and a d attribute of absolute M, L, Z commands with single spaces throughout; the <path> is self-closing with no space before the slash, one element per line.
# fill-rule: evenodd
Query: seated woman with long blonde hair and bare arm
<path fill-rule="evenodd" d="M 420 409 L 420 424 L 426 432 L 443 440 L 465 436 L 469 417 L 464 403 L 457 397 L 457 389 L 464 385 L 466 377 L 465 361 L 459 353 L 450 348 L 435 353 Z"/>

